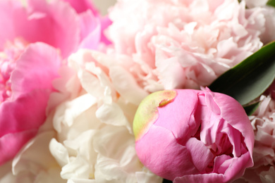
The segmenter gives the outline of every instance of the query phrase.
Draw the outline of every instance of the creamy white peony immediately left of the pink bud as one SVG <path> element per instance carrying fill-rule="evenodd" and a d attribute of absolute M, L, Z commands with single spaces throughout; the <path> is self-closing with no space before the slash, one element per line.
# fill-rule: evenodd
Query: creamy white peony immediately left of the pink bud
<path fill-rule="evenodd" d="M 54 113 L 49 148 L 68 182 L 161 182 L 138 160 L 132 121 L 147 96 L 118 55 L 80 50 L 68 58 L 70 99 Z M 60 86 L 59 86 L 60 87 Z"/>

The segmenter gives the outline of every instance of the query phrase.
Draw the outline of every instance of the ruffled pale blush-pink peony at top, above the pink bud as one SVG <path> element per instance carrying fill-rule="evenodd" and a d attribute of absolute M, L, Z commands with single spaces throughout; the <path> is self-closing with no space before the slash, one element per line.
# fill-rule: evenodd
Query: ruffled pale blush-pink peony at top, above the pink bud
<path fill-rule="evenodd" d="M 274 39 L 268 12 L 238 0 L 119 0 L 107 32 L 147 91 L 198 89 Z"/>

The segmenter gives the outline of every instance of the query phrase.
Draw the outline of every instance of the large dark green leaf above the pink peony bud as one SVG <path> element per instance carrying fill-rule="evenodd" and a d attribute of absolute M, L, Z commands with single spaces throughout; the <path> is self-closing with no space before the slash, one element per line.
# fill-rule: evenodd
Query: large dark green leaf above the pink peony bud
<path fill-rule="evenodd" d="M 260 96 L 274 77 L 275 42 L 271 42 L 218 77 L 209 89 L 232 96 L 245 105 Z"/>

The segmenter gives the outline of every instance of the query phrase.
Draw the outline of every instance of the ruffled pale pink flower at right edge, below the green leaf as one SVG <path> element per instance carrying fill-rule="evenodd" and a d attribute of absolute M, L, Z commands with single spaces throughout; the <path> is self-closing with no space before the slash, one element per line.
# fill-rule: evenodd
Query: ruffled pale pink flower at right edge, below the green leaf
<path fill-rule="evenodd" d="M 247 182 L 275 182 L 275 100 L 262 95 L 257 111 L 250 116 L 255 134 L 255 165 L 242 177 Z"/>

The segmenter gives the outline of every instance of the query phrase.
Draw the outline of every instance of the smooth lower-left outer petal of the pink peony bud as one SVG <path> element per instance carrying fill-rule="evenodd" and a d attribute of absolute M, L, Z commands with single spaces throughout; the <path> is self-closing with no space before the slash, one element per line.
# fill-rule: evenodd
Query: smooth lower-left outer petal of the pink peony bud
<path fill-rule="evenodd" d="M 147 134 L 136 141 L 135 149 L 149 170 L 166 179 L 173 180 L 183 172 L 199 173 L 188 149 L 178 144 L 173 133 L 164 127 L 152 125 Z"/>

